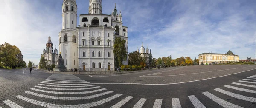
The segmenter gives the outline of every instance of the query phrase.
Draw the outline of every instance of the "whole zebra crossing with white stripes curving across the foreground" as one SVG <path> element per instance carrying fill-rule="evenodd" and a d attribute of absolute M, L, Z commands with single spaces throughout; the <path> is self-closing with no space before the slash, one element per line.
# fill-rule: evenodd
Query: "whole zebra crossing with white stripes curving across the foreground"
<path fill-rule="evenodd" d="M 252 85 L 256 84 L 255 79 L 256 74 L 247 77 L 246 79 L 232 82 L 232 85 L 224 85 L 223 88 L 228 88 L 228 90 L 224 90 L 223 88 L 215 88 L 213 89 L 216 91 L 215 93 L 205 91 L 202 92 L 202 94 L 213 103 L 217 103 L 224 108 L 244 108 L 243 106 L 239 106 L 236 102 L 228 102 L 226 99 L 222 99 L 218 96 L 226 95 L 243 101 L 256 102 L 256 98 L 254 97 L 256 94 L 256 85 Z M 251 94 L 251 97 L 238 94 L 237 92 L 233 93 L 231 90 L 249 93 Z M 115 93 L 114 91 L 108 91 L 106 88 L 94 85 L 93 83 L 84 81 L 79 77 L 70 74 L 52 74 L 50 77 L 46 78 L 44 81 L 40 82 L 38 85 L 35 85 L 33 88 L 30 88 L 24 93 L 26 95 L 17 95 L 16 98 L 19 99 L 19 101 L 45 108 L 90 108 L 101 107 L 100 105 L 108 105 L 111 102 L 113 105 L 111 104 L 110 108 L 121 108 L 124 107 L 129 101 L 134 99 L 134 96 L 125 96 L 123 94 Z M 220 95 L 216 95 L 216 93 Z M 45 101 L 47 99 L 51 101 Z M 82 102 L 90 99 L 98 100 L 87 103 Z M 115 101 L 117 99 L 119 100 Z M 200 98 L 198 98 L 197 95 L 187 96 L 187 100 L 189 100 L 189 102 L 195 108 L 207 108 L 207 105 L 205 104 L 206 102 L 204 102 L 203 99 L 200 99 L 201 101 L 199 99 Z M 52 100 L 81 102 L 77 104 L 60 104 L 58 102 L 52 102 Z M 153 106 L 153 108 L 162 108 L 164 104 L 172 105 L 170 106 L 172 108 L 185 107 L 182 106 L 183 104 L 181 104 L 183 100 L 180 101 L 178 97 L 172 98 L 172 101 L 169 103 L 163 103 L 163 100 L 164 99 L 154 99 L 152 102 L 147 102 L 151 100 L 139 98 L 139 100 L 132 103 L 132 106 L 129 106 L 129 108 L 143 108 L 143 106 L 145 107 L 145 104 L 152 104 L 151 106 Z M 11 99 L 4 100 L 3 103 L 8 105 L 10 108 L 26 108 L 23 104 L 20 104 L 21 102 L 15 103 L 15 101 Z"/>

